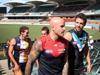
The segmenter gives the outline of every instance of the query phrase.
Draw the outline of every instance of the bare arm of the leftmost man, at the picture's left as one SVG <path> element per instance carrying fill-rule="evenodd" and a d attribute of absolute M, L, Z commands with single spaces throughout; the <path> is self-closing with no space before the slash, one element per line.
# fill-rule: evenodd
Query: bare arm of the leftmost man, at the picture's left
<path fill-rule="evenodd" d="M 8 54 L 9 54 L 9 57 L 10 57 L 12 63 L 14 64 L 14 70 L 18 70 L 19 69 L 19 66 L 18 66 L 18 64 L 17 64 L 17 62 L 16 62 L 16 60 L 15 60 L 15 58 L 13 56 L 13 51 L 14 51 L 13 48 L 14 48 L 15 43 L 16 43 L 15 39 L 14 38 L 11 39 L 11 41 L 9 43 L 9 51 L 8 51 Z"/>

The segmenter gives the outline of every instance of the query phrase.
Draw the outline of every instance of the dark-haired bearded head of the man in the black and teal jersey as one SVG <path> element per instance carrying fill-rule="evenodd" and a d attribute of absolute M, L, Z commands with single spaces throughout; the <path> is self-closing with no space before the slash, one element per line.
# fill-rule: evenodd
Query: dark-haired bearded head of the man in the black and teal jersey
<path fill-rule="evenodd" d="M 81 31 L 84 28 L 84 26 L 86 25 L 86 22 L 87 22 L 87 18 L 86 18 L 85 14 L 80 13 L 80 14 L 76 15 L 76 17 L 75 17 L 75 29 L 77 31 Z"/>

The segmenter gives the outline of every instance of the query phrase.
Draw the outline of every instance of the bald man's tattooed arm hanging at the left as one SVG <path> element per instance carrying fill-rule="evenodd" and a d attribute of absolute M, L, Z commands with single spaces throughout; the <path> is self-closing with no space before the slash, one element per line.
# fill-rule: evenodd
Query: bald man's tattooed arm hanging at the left
<path fill-rule="evenodd" d="M 42 42 L 40 40 L 35 41 L 28 57 L 25 69 L 25 75 L 31 75 L 31 63 L 35 62 L 35 60 L 41 53 L 41 49 L 42 49 Z"/>

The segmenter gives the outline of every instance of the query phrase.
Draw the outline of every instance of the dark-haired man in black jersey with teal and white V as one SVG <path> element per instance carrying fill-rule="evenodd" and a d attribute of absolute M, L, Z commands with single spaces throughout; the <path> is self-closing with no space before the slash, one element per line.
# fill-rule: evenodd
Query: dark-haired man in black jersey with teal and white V
<path fill-rule="evenodd" d="M 90 52 L 88 48 L 88 33 L 83 30 L 87 19 L 83 13 L 75 17 L 74 29 L 66 32 L 64 37 L 70 42 L 68 50 L 69 75 L 83 75 L 85 65 L 84 57 L 87 60 L 87 71 L 91 71 Z M 73 70 L 74 69 L 74 70 Z M 74 72 L 73 72 L 74 71 Z"/>

